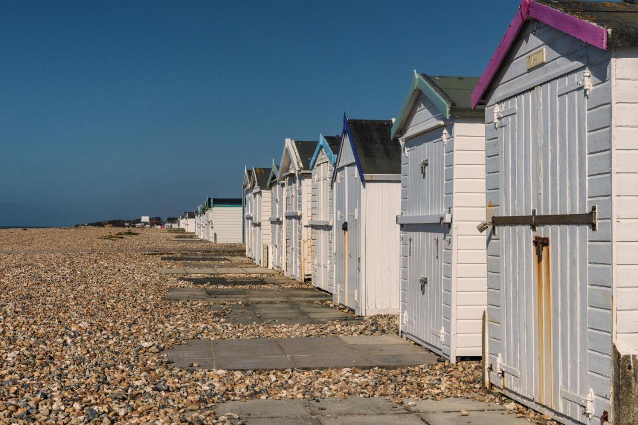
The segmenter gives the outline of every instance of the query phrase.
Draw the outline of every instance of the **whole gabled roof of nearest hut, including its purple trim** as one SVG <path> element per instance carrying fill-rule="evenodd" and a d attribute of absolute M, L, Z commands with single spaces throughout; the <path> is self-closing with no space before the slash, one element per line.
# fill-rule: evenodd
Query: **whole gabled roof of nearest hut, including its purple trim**
<path fill-rule="evenodd" d="M 638 46 L 638 5 L 624 2 L 521 0 L 519 10 L 487 64 L 471 101 L 479 104 L 526 20 L 544 22 L 594 47 Z"/>

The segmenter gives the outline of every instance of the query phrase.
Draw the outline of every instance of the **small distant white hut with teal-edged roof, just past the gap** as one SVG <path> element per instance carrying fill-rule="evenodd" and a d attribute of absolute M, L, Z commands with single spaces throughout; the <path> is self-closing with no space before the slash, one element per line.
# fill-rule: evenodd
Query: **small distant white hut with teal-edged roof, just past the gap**
<path fill-rule="evenodd" d="M 241 198 L 211 198 L 210 241 L 239 243 L 242 240 Z"/>

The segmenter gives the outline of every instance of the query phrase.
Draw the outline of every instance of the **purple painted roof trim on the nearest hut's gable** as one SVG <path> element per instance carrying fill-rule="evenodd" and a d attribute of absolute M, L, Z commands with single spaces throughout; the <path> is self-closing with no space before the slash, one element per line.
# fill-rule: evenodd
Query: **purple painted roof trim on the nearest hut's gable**
<path fill-rule="evenodd" d="M 477 86 L 472 92 L 472 108 L 475 108 L 477 104 L 479 104 L 481 97 L 487 90 L 487 86 L 492 82 L 496 71 L 498 71 L 498 68 L 501 66 L 505 55 L 508 50 L 510 50 L 510 47 L 512 47 L 512 44 L 514 44 L 516 36 L 528 17 L 540 20 L 540 22 L 551 25 L 594 47 L 607 48 L 607 30 L 603 27 L 573 17 L 572 15 L 545 6 L 544 4 L 537 3 L 534 0 L 521 0 L 521 5 L 519 6 L 516 16 L 514 16 L 510 27 L 507 29 L 507 32 L 505 32 L 503 40 L 501 40 L 498 48 L 496 48 L 496 52 L 494 52 L 492 59 L 490 59 L 489 64 L 487 64 L 487 68 L 480 77 L 479 83 L 477 83 Z"/>

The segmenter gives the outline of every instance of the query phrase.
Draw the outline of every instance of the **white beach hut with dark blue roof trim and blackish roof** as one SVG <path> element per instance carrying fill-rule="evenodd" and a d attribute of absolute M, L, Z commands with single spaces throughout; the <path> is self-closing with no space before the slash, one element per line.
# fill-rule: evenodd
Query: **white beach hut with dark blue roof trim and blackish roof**
<path fill-rule="evenodd" d="M 334 299 L 359 315 L 399 312 L 401 147 L 390 120 L 349 120 L 332 174 Z"/>

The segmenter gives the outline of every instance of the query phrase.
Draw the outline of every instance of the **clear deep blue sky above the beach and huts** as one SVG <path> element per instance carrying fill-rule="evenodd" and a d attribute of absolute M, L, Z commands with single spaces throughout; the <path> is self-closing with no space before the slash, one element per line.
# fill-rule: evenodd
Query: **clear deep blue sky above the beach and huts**
<path fill-rule="evenodd" d="M 239 197 L 284 138 L 396 116 L 412 69 L 480 75 L 518 3 L 4 2 L 0 226 Z"/>

